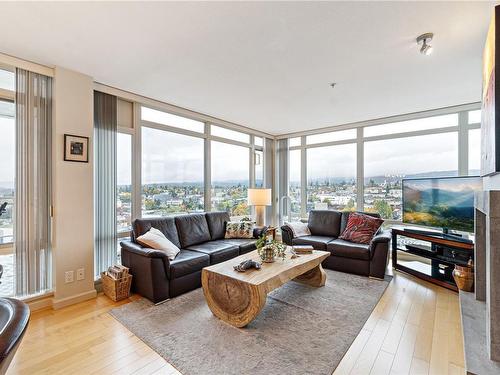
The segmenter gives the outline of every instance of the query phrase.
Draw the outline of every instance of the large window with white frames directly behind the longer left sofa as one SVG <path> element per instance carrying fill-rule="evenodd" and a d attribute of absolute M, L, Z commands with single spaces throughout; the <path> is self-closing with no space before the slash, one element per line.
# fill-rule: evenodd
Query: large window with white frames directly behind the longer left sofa
<path fill-rule="evenodd" d="M 227 211 L 232 217 L 252 214 L 248 188 L 270 184 L 265 181 L 262 135 L 199 121 L 195 114 L 188 118 L 137 107 L 141 160 L 141 212 L 137 217 L 209 210 Z M 132 164 L 136 157 L 133 152 Z M 133 211 L 133 193 L 131 199 Z"/>

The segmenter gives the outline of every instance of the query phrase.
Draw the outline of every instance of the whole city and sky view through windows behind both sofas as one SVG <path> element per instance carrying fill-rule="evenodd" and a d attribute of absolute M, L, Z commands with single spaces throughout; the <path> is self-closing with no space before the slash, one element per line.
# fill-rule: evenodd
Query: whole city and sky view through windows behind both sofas
<path fill-rule="evenodd" d="M 475 113 L 472 111 L 470 114 Z M 439 122 L 437 121 L 439 120 Z M 446 120 L 445 122 L 443 122 Z M 436 132 L 425 135 L 392 133 L 432 131 L 439 127 L 458 126 L 458 115 L 377 125 L 375 136 L 386 139 L 363 141 L 363 210 L 377 212 L 390 220 L 402 219 L 402 180 L 404 178 L 445 177 L 458 175 L 458 132 Z M 475 122 L 472 124 L 476 124 Z M 405 128 L 407 126 L 408 128 Z M 345 131 L 344 131 L 345 132 Z M 216 132 L 217 133 L 217 132 Z M 220 134 L 219 134 L 220 133 Z M 247 141 L 238 132 L 220 128 L 218 137 Z M 233 134 L 234 133 L 234 134 Z M 243 133 L 241 133 L 243 134 Z M 343 134 L 343 133 L 342 133 Z M 347 134 L 347 133 L 346 133 Z M 371 135 L 370 132 L 368 132 Z M 355 132 L 344 138 L 352 138 Z M 337 141 L 337 135 L 331 134 Z M 479 129 L 468 130 L 468 173 L 478 174 Z M 289 151 L 290 220 L 307 216 L 312 209 L 357 210 L 357 147 L 356 143 L 317 146 L 306 139 L 298 149 L 300 138 L 291 142 Z M 339 140 L 344 140 L 339 138 Z M 310 142 L 309 142 L 310 141 Z M 347 141 L 350 141 L 347 139 Z M 354 141 L 354 139 L 353 139 Z M 260 142 L 260 141 L 259 141 Z M 312 143 L 311 143 L 312 142 Z M 178 134 L 150 127 L 142 129 L 142 216 L 165 216 L 187 212 L 203 212 L 204 144 L 202 137 Z M 308 146 L 311 144 L 311 146 Z M 118 231 L 127 231 L 131 224 L 131 161 L 132 139 L 128 134 L 118 137 Z M 210 141 L 210 172 L 212 210 L 228 211 L 233 217 L 250 214 L 247 192 L 250 186 L 250 148 L 243 145 Z M 305 153 L 306 166 L 301 153 Z M 263 152 L 256 151 L 255 185 L 262 186 Z M 306 184 L 301 178 L 306 169 Z M 305 193 L 305 198 L 302 194 Z M 361 197 L 360 197 L 361 198 Z M 302 207 L 304 201 L 305 207 Z M 305 213 L 305 215 L 304 215 Z"/>

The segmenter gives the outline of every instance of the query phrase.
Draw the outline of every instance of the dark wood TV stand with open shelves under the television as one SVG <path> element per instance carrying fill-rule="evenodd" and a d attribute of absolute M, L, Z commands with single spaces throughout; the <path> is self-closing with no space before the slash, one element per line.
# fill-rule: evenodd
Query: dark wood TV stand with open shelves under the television
<path fill-rule="evenodd" d="M 398 236 L 423 241 L 426 244 L 398 245 Z M 392 230 L 392 267 L 428 282 L 458 291 L 452 277 L 455 265 L 465 266 L 474 259 L 474 243 L 462 238 L 438 232 L 418 232 L 414 230 Z M 398 259 L 398 253 L 415 256 L 414 261 Z M 423 259 L 425 260 L 423 260 Z"/>

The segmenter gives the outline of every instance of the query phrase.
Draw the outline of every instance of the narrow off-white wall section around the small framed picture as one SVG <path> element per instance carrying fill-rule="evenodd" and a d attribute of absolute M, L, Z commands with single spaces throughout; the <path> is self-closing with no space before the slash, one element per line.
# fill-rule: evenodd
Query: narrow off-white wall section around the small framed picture
<path fill-rule="evenodd" d="M 93 79 L 56 67 L 54 75 L 53 134 L 53 258 L 55 290 L 53 305 L 59 308 L 93 298 L 94 208 L 93 208 Z M 64 134 L 90 138 L 89 162 L 64 161 Z M 85 269 L 85 279 L 76 280 L 76 270 Z M 65 283 L 66 271 L 74 281 Z"/>

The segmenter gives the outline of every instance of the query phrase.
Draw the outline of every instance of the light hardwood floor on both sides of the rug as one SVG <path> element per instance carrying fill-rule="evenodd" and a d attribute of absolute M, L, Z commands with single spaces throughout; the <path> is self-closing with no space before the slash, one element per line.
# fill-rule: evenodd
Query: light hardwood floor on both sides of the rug
<path fill-rule="evenodd" d="M 128 301 L 33 313 L 7 374 L 179 374 L 108 314 Z M 396 273 L 334 375 L 464 373 L 458 295 Z"/>

